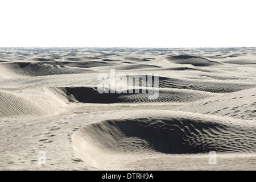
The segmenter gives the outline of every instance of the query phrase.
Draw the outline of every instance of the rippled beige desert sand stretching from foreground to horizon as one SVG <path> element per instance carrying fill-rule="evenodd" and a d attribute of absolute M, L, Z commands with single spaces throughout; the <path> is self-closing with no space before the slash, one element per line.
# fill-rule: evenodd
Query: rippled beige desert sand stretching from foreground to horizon
<path fill-rule="evenodd" d="M 255 170 L 255 51 L 1 48 L 0 169 Z M 98 93 L 110 69 L 159 97 Z"/>

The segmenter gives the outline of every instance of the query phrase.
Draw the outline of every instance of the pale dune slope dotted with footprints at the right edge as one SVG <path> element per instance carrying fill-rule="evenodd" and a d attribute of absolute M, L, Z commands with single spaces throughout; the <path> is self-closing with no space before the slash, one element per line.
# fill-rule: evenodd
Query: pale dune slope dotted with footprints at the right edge
<path fill-rule="evenodd" d="M 242 90 L 240 92 L 226 94 L 225 96 L 214 96 L 194 102 L 191 105 L 182 106 L 178 109 L 231 118 L 255 119 L 256 89 Z"/>

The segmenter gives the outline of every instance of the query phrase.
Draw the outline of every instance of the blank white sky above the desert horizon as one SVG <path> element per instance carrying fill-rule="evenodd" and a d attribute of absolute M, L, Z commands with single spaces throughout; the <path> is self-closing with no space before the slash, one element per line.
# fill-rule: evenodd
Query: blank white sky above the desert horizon
<path fill-rule="evenodd" d="M 1 0 L 0 47 L 256 47 L 254 2 Z"/>

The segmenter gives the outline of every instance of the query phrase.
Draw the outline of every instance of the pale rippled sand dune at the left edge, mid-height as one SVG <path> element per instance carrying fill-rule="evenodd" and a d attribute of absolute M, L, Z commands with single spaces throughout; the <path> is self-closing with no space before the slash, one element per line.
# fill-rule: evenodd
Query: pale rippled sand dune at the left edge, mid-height
<path fill-rule="evenodd" d="M 43 96 L 15 93 L 0 90 L 0 118 L 8 117 L 35 117 L 36 115 L 54 114 L 63 110 L 65 97 L 56 97 L 49 89 L 44 89 Z"/>

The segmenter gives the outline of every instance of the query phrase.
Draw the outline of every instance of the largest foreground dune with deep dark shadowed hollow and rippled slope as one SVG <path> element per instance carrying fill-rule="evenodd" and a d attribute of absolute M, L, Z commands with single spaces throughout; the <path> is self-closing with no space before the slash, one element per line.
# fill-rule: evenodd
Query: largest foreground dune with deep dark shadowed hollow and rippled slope
<path fill-rule="evenodd" d="M 90 165 L 101 166 L 101 158 L 108 152 L 126 155 L 255 152 L 255 131 L 255 122 L 143 110 L 139 117 L 134 113 L 133 118 L 84 126 L 72 138 L 79 158 Z"/>

